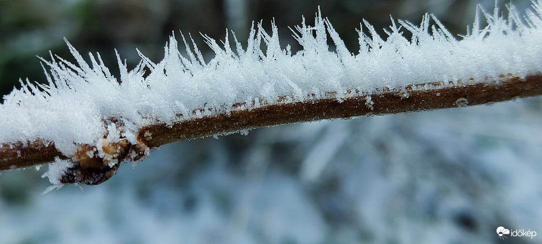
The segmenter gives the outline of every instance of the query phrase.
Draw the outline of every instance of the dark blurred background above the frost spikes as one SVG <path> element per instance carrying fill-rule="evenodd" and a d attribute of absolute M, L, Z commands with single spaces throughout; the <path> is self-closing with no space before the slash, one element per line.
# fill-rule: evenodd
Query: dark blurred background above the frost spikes
<path fill-rule="evenodd" d="M 488 2 L 486 8 L 491 9 L 493 1 Z M 472 22 L 470 16 L 474 15 L 475 5 L 469 0 L 1 0 L 0 93 L 3 96 L 14 86 L 20 87 L 19 78 L 44 82 L 36 56 L 48 59 L 49 50 L 73 60 L 63 37 L 83 56 L 99 52 L 113 74 L 117 74 L 114 48 L 128 61 L 128 67 L 134 67 L 140 60 L 135 48 L 158 62 L 168 36 L 175 33 L 179 37 L 179 30 L 191 33 L 198 46 L 208 51 L 198 33 L 220 39 L 229 28 L 246 42 L 251 21 L 262 21 L 263 27 L 268 29 L 274 19 L 283 46 L 288 43 L 297 50 L 299 46 L 287 27 L 300 24 L 301 16 L 305 16 L 307 24 L 313 24 L 318 6 L 351 52 L 357 53 L 355 29 L 360 28 L 362 18 L 383 35 L 382 29 L 390 25 L 390 15 L 417 23 L 425 12 L 433 12 L 452 33 L 459 34 Z M 212 54 L 205 57 L 209 60 Z"/>

